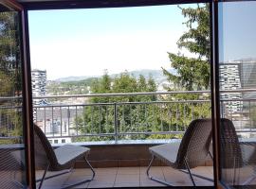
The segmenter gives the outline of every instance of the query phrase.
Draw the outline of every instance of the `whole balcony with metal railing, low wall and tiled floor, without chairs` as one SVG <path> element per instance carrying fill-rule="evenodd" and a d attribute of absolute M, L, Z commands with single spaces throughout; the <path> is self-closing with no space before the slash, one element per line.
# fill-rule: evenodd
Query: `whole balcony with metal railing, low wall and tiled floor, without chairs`
<path fill-rule="evenodd" d="M 236 95 L 244 92 L 247 91 L 225 93 Z M 198 94 L 200 97 L 193 100 L 170 97 L 175 94 Z M 113 100 L 114 102 L 92 103 L 88 100 L 91 97 L 115 98 L 131 95 L 155 96 L 155 101 Z M 84 103 L 67 103 L 67 98 L 71 102 Z M 148 148 L 180 142 L 193 119 L 210 117 L 209 91 L 43 96 L 34 99 L 51 101 L 51 104 L 44 106 L 35 105 L 33 113 L 34 122 L 46 133 L 52 146 L 72 143 L 90 147 L 88 160 L 96 169 L 96 177 L 95 180 L 78 186 L 80 188 L 164 186 L 146 176 L 151 158 Z M 221 116 L 233 121 L 242 142 L 255 141 L 256 129 L 252 113 L 254 103 L 255 99 L 249 98 L 221 101 Z M 159 179 L 172 181 L 178 186 L 192 186 L 187 174 L 164 163 L 156 161 L 152 170 L 152 174 Z M 192 169 L 193 173 L 210 179 L 213 178 L 212 171 L 210 157 L 205 166 Z M 78 162 L 70 174 L 46 180 L 44 188 L 71 184 L 84 179 L 87 173 L 89 174 L 88 168 Z M 37 170 L 37 179 L 42 174 L 41 170 Z M 195 182 L 198 186 L 213 185 L 211 181 L 199 178 Z"/>

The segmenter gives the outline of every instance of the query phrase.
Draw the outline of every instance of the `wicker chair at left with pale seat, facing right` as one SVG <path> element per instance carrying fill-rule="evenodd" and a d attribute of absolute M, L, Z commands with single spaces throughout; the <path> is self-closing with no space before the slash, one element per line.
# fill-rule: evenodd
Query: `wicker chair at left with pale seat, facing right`
<path fill-rule="evenodd" d="M 34 143 L 35 143 L 35 166 L 36 169 L 45 169 L 43 178 L 40 181 L 39 189 L 42 187 L 44 180 L 51 179 L 66 173 L 69 173 L 76 161 L 84 159 L 92 171 L 92 177 L 89 180 L 82 180 L 78 183 L 66 186 L 64 188 L 70 188 L 76 185 L 80 185 L 84 182 L 94 179 L 95 171 L 91 164 L 87 161 L 86 157 L 89 152 L 89 148 L 83 146 L 64 145 L 53 149 L 49 144 L 45 133 L 38 126 L 34 125 Z M 46 177 L 47 171 L 62 171 L 69 169 L 59 174 L 55 174 L 50 177 Z"/>

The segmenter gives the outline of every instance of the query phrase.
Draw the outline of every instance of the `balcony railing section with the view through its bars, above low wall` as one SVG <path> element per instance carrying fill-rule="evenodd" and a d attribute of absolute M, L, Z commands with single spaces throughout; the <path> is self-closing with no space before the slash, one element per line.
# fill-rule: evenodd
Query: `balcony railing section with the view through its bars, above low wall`
<path fill-rule="evenodd" d="M 255 99 L 240 96 L 249 92 L 255 90 L 222 92 L 221 117 L 234 123 L 241 138 L 252 138 L 256 131 Z M 199 97 L 178 99 L 172 97 L 175 94 Z M 116 100 L 119 96 L 154 96 L 155 100 Z M 108 99 L 108 102 L 92 103 L 89 101 L 92 97 Z M 210 117 L 209 91 L 55 95 L 34 99 L 55 100 L 33 107 L 34 122 L 53 145 L 70 142 L 84 145 L 166 143 L 180 140 L 193 119 Z M 83 103 L 70 103 L 73 101 Z"/>

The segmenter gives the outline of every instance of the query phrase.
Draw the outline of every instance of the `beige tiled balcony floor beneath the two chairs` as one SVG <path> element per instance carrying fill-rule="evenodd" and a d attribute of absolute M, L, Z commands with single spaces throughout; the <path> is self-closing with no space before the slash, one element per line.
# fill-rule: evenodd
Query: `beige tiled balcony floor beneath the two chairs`
<path fill-rule="evenodd" d="M 96 176 L 94 180 L 79 185 L 75 188 L 102 188 L 102 187 L 139 187 L 139 186 L 164 186 L 154 180 L 149 180 L 146 176 L 146 168 L 141 167 L 110 167 L 95 168 Z M 192 169 L 192 173 L 209 177 L 212 179 L 212 167 L 201 166 Z M 51 173 L 47 174 L 49 176 Z M 44 189 L 56 189 L 61 186 L 72 184 L 90 177 L 89 169 L 75 169 L 69 174 L 45 180 Z M 192 181 L 189 175 L 177 171 L 168 166 L 153 166 L 151 174 L 159 179 L 166 180 L 179 186 L 190 186 Z M 41 178 L 42 171 L 37 171 L 38 179 Z M 194 178 L 198 186 L 210 186 L 213 183 L 208 180 Z"/>

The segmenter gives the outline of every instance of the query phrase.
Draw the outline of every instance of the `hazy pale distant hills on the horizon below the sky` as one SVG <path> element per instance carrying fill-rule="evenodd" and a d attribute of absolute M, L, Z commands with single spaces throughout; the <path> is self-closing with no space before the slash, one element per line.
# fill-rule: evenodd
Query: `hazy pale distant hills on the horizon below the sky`
<path fill-rule="evenodd" d="M 169 69 L 171 73 L 174 73 L 174 69 Z M 154 77 L 155 81 L 157 83 L 162 82 L 163 80 L 166 80 L 166 77 L 163 76 L 162 70 L 150 70 L 150 69 L 142 69 L 142 70 L 135 70 L 128 72 L 130 75 L 134 77 L 139 77 L 139 75 L 142 75 L 145 78 Z M 117 77 L 119 74 L 112 74 L 110 77 Z M 92 78 L 92 77 L 101 77 L 101 76 L 81 76 L 81 77 L 62 77 L 62 78 L 57 78 L 54 81 L 56 82 L 69 82 L 69 81 L 81 81 L 85 80 L 87 78 Z"/>

